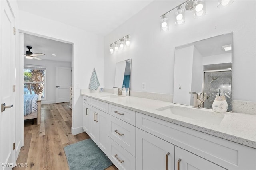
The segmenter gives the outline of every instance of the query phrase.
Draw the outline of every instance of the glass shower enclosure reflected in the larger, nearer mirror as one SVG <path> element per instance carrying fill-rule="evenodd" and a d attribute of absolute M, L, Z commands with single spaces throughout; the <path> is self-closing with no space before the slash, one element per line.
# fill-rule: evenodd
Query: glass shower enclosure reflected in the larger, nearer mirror
<path fill-rule="evenodd" d="M 204 73 L 204 93 L 206 100 L 204 108 L 212 109 L 212 103 L 218 94 L 218 89 L 223 90 L 223 95 L 228 103 L 228 110 L 232 112 L 232 71 L 205 72 Z"/>

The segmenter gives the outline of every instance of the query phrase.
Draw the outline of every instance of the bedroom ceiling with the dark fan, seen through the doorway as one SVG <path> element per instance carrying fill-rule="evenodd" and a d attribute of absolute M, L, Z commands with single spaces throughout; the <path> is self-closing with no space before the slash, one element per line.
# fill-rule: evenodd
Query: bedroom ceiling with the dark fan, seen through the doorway
<path fill-rule="evenodd" d="M 26 46 L 32 47 L 30 51 L 33 54 L 45 54 L 43 56 L 38 56 L 40 59 L 72 62 L 72 44 L 24 34 L 24 54 L 28 51 Z M 52 54 L 56 54 L 56 56 L 52 56 Z"/>

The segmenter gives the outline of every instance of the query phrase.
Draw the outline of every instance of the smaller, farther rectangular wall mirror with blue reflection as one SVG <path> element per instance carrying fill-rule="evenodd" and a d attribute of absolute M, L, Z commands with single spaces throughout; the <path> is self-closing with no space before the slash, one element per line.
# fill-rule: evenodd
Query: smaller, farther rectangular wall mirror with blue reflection
<path fill-rule="evenodd" d="M 115 87 L 122 88 L 124 85 L 126 91 L 130 88 L 132 59 L 116 63 Z"/>

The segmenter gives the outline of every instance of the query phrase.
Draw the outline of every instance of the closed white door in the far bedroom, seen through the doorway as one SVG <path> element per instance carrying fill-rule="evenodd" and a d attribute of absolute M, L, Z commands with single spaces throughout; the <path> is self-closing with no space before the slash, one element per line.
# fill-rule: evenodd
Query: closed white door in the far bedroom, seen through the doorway
<path fill-rule="evenodd" d="M 69 102 L 71 74 L 71 67 L 56 67 L 56 103 Z"/>

